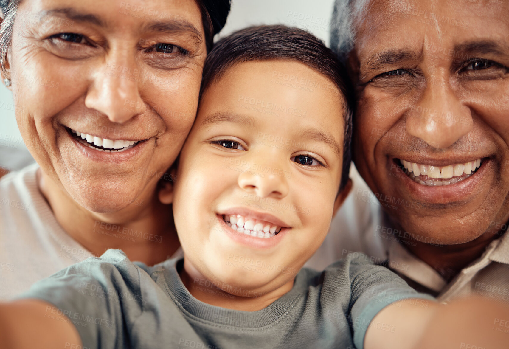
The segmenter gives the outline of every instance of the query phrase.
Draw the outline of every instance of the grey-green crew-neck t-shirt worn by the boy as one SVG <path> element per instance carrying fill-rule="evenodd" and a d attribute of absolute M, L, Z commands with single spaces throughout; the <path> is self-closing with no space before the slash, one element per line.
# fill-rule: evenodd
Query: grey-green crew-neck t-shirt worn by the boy
<path fill-rule="evenodd" d="M 362 348 L 368 326 L 394 332 L 391 324 L 370 324 L 383 307 L 406 298 L 427 307 L 433 300 L 388 269 L 348 257 L 323 272 L 302 269 L 290 292 L 262 310 L 231 310 L 192 297 L 182 267 L 174 258 L 148 268 L 108 250 L 39 281 L 21 298 L 53 304 L 46 317 L 67 315 L 83 347 L 103 349 Z M 207 280 L 191 287 L 246 293 Z"/>

